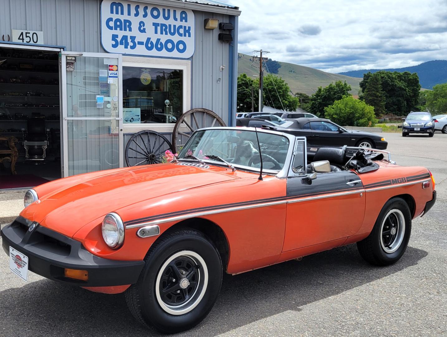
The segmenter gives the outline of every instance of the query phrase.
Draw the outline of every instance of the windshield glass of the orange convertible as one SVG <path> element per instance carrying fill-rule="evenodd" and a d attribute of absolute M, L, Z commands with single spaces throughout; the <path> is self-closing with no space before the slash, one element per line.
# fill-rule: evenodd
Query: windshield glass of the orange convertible
<path fill-rule="evenodd" d="M 289 149 L 287 137 L 257 132 L 263 162 L 263 171 L 280 171 L 286 162 Z M 219 162 L 218 156 L 234 166 L 261 167 L 256 132 L 250 130 L 212 129 L 195 132 L 178 155 L 179 159 Z M 222 162 L 219 162 L 222 164 Z M 225 164 L 223 164 L 225 165 Z"/>

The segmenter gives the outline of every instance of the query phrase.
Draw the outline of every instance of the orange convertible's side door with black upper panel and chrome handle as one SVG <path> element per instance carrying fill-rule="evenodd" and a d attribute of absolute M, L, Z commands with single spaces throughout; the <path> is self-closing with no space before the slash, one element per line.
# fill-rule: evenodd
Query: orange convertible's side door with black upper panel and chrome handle
<path fill-rule="evenodd" d="M 299 142 L 297 142 L 299 143 Z M 287 177 L 286 232 L 283 252 L 354 235 L 363 223 L 365 196 L 363 183 L 353 171 L 318 173 L 308 179 L 293 166 Z"/>

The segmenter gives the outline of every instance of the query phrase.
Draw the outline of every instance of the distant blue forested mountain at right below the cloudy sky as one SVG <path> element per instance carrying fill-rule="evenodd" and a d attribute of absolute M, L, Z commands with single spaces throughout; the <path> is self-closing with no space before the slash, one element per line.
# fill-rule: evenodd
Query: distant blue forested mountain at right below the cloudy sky
<path fill-rule="evenodd" d="M 410 73 L 417 73 L 419 76 L 419 82 L 422 88 L 432 89 L 434 85 L 447 82 L 447 61 L 446 60 L 435 60 L 428 61 L 412 67 L 405 68 L 390 68 L 390 69 L 363 69 L 363 70 L 352 70 L 345 73 L 341 73 L 346 76 L 363 77 L 364 73 L 371 72 L 375 73 L 379 70 L 386 71 L 396 71 L 403 73 L 408 71 Z"/>

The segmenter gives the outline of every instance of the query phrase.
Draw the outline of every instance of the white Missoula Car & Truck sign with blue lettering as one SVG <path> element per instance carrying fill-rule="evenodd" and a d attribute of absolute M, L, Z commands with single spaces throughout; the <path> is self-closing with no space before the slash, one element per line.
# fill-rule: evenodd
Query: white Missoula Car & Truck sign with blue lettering
<path fill-rule="evenodd" d="M 156 4 L 103 0 L 101 43 L 110 53 L 188 59 L 195 48 L 194 13 Z"/>

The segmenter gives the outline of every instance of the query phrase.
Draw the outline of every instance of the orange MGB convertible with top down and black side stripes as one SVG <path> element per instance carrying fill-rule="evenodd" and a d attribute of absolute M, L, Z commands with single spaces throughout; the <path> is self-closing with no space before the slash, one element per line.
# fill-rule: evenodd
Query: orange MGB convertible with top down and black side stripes
<path fill-rule="evenodd" d="M 154 147 L 144 138 L 140 146 Z M 30 270 L 125 292 L 135 318 L 165 333 L 207 315 L 223 273 L 355 242 L 372 264 L 398 261 L 412 219 L 435 202 L 430 171 L 374 149 L 320 148 L 312 160 L 304 137 L 199 129 L 172 162 L 29 190 L 25 209 L 1 230 L 3 249 L 24 279 Z"/>

